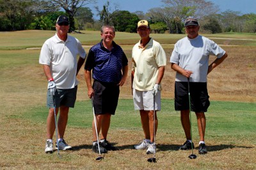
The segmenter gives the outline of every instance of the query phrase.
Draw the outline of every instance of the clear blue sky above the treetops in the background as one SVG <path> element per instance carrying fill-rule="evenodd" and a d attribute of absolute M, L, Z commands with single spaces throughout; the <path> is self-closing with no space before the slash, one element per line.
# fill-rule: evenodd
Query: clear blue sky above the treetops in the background
<path fill-rule="evenodd" d="M 97 6 L 102 9 L 108 0 L 97 0 Z M 220 12 L 225 10 L 240 11 L 244 13 L 256 13 L 256 0 L 205 0 L 211 1 L 220 8 Z M 143 11 L 147 12 L 150 8 L 163 7 L 161 0 L 109 0 L 111 10 L 115 10 L 113 6 L 118 5 L 118 10 L 127 10 L 130 12 Z M 89 7 L 95 13 L 95 4 L 90 4 Z M 94 15 L 94 18 L 97 16 Z"/>

